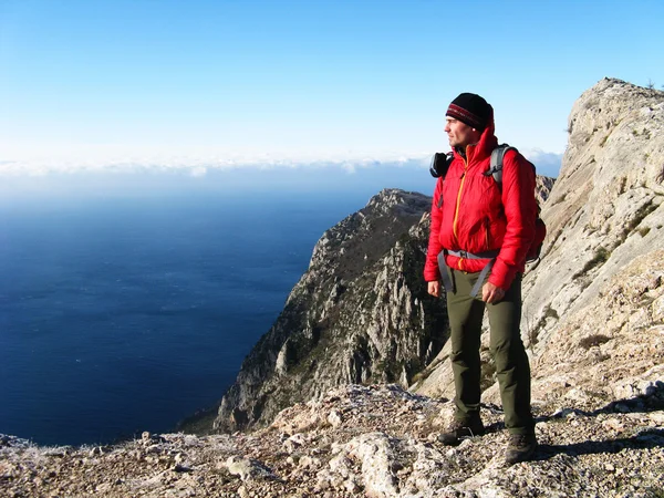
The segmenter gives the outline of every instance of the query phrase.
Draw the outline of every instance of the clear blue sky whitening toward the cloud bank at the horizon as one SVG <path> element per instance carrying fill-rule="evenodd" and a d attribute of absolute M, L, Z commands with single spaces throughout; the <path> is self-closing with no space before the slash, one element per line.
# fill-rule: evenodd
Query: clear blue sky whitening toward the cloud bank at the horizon
<path fill-rule="evenodd" d="M 0 173 L 430 157 L 465 91 L 499 139 L 560 155 L 602 77 L 664 86 L 662 21 L 660 0 L 0 0 Z"/>

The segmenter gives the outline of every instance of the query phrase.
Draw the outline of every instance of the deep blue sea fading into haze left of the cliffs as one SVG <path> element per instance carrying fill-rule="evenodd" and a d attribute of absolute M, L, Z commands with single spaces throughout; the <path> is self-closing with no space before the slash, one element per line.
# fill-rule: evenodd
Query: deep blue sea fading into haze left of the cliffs
<path fill-rule="evenodd" d="M 68 174 L 0 186 L 0 433 L 98 445 L 215 406 L 324 230 L 426 167 Z"/>

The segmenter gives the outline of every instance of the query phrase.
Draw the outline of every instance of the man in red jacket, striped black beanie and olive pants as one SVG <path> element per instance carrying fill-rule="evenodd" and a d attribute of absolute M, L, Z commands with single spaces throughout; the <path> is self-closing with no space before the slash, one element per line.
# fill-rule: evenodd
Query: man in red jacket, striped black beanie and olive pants
<path fill-rule="evenodd" d="M 446 113 L 445 132 L 454 151 L 438 178 L 424 269 L 428 293 L 445 282 L 456 387 L 455 422 L 438 440 L 456 445 L 484 434 L 479 416 L 480 333 L 485 309 L 496 363 L 505 425 L 510 438 L 506 461 L 528 460 L 537 448 L 530 411 L 530 365 L 520 336 L 521 274 L 535 237 L 538 214 L 535 170 L 513 149 L 505 153 L 502 181 L 489 170 L 494 108 L 479 95 L 461 93 Z M 490 266 L 490 273 L 481 270 Z M 477 284 L 481 292 L 473 297 Z"/>

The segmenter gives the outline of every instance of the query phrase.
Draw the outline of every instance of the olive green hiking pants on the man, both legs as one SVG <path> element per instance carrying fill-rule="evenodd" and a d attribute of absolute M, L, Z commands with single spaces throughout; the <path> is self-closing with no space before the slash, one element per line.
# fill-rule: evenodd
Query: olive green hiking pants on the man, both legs
<path fill-rule="evenodd" d="M 479 346 L 485 308 L 489 313 L 490 351 L 500 386 L 505 425 L 511 434 L 531 434 L 530 365 L 521 341 L 521 274 L 517 274 L 505 298 L 495 304 L 470 297 L 479 273 L 453 271 L 455 292 L 447 293 L 452 329 L 452 367 L 456 387 L 456 418 L 467 422 L 479 416 Z"/>

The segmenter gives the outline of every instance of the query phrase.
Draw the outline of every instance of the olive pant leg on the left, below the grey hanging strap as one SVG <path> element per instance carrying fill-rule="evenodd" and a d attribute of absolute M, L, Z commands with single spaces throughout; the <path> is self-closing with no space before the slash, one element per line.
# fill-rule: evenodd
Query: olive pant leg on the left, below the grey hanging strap
<path fill-rule="evenodd" d="M 447 293 L 452 341 L 452 370 L 456 387 L 456 418 L 467 422 L 479 416 L 479 345 L 485 303 L 470 297 L 478 274 L 454 272 L 455 292 Z"/>

